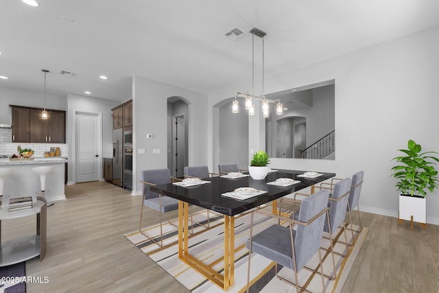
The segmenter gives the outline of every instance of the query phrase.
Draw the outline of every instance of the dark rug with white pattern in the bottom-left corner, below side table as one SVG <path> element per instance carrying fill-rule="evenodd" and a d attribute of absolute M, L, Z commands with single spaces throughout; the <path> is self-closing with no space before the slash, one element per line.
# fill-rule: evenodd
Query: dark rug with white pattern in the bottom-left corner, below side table
<path fill-rule="evenodd" d="M 0 293 L 25 293 L 25 262 L 0 268 Z"/>

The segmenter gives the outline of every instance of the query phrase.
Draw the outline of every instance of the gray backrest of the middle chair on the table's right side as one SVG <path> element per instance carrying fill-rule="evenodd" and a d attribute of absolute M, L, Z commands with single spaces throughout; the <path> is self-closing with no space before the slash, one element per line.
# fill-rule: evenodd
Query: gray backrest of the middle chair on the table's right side
<path fill-rule="evenodd" d="M 334 185 L 332 198 L 342 198 L 348 194 L 351 189 L 351 178 L 344 178 Z M 348 207 L 349 196 L 345 196 L 340 201 L 329 200 L 329 222 L 331 223 L 331 233 L 342 224 L 346 215 L 346 208 Z M 329 232 L 328 223 L 324 224 L 324 231 Z"/>

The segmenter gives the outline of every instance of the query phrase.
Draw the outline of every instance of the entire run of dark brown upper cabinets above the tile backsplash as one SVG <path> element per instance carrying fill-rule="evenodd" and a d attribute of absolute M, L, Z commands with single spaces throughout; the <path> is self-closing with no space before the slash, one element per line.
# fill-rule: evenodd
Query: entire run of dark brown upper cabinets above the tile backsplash
<path fill-rule="evenodd" d="M 43 120 L 41 119 L 43 109 L 20 106 L 11 106 L 11 108 L 12 142 L 66 143 L 66 113 L 64 111 L 47 109 L 47 120 Z"/>

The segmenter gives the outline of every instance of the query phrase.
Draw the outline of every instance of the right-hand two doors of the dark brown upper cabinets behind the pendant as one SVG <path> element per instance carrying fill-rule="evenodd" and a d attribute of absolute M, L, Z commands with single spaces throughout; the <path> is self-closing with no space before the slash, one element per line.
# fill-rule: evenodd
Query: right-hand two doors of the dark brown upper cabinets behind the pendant
<path fill-rule="evenodd" d="M 41 119 L 40 109 L 30 110 L 31 143 L 65 143 L 66 113 L 47 110 L 47 120 Z"/>

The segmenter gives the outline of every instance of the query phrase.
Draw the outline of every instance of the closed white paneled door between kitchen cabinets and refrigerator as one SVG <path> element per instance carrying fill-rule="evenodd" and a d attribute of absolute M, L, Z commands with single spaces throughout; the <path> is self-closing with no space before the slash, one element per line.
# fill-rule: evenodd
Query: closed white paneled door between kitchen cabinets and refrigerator
<path fill-rule="evenodd" d="M 99 119 L 97 115 L 75 115 L 75 181 L 99 180 Z"/>

